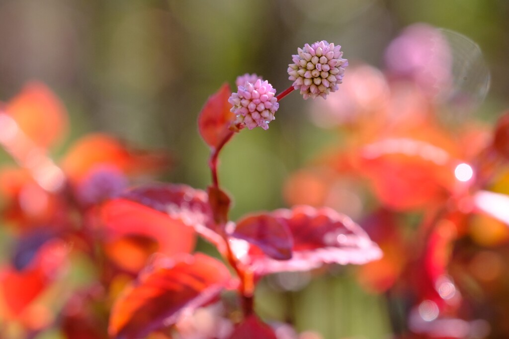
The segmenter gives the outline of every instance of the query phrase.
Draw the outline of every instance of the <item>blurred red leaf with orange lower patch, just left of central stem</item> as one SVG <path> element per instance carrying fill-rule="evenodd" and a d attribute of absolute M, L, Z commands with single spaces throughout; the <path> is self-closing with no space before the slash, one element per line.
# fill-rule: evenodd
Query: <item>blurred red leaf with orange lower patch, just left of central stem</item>
<path fill-rule="evenodd" d="M 127 199 L 105 203 L 100 220 L 110 259 L 131 272 L 143 268 L 156 251 L 172 256 L 194 248 L 194 230 L 182 220 Z M 151 246 L 150 240 L 157 246 Z"/>

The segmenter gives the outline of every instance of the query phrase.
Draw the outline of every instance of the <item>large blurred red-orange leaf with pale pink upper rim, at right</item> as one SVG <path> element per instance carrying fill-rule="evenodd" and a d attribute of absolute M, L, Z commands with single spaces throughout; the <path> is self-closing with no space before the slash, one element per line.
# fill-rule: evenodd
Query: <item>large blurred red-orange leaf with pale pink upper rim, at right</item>
<path fill-rule="evenodd" d="M 427 140 L 381 139 L 363 147 L 358 161 L 358 170 L 391 209 L 411 210 L 443 202 L 456 182 L 451 154 Z"/>

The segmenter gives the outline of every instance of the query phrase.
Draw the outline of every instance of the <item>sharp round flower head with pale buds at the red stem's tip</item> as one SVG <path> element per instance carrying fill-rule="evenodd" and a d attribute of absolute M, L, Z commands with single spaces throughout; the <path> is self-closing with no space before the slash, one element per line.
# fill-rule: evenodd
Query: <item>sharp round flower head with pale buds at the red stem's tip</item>
<path fill-rule="evenodd" d="M 311 46 L 305 44 L 292 55 L 294 63 L 288 65 L 289 79 L 293 80 L 293 87 L 300 90 L 304 99 L 326 98 L 330 92 L 337 91 L 348 66 L 348 60 L 342 58 L 340 49 L 341 46 L 322 40 Z"/>

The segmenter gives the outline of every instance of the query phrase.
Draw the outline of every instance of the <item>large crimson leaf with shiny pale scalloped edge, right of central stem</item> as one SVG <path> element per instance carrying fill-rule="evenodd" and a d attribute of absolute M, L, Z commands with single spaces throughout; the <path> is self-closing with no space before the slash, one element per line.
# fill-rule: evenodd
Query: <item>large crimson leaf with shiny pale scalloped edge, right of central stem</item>
<path fill-rule="evenodd" d="M 270 215 L 290 230 L 292 259 L 274 260 L 258 246 L 232 239 L 236 256 L 259 275 L 309 270 L 324 263 L 363 264 L 382 256 L 378 245 L 359 225 L 330 208 L 297 206 Z"/>

